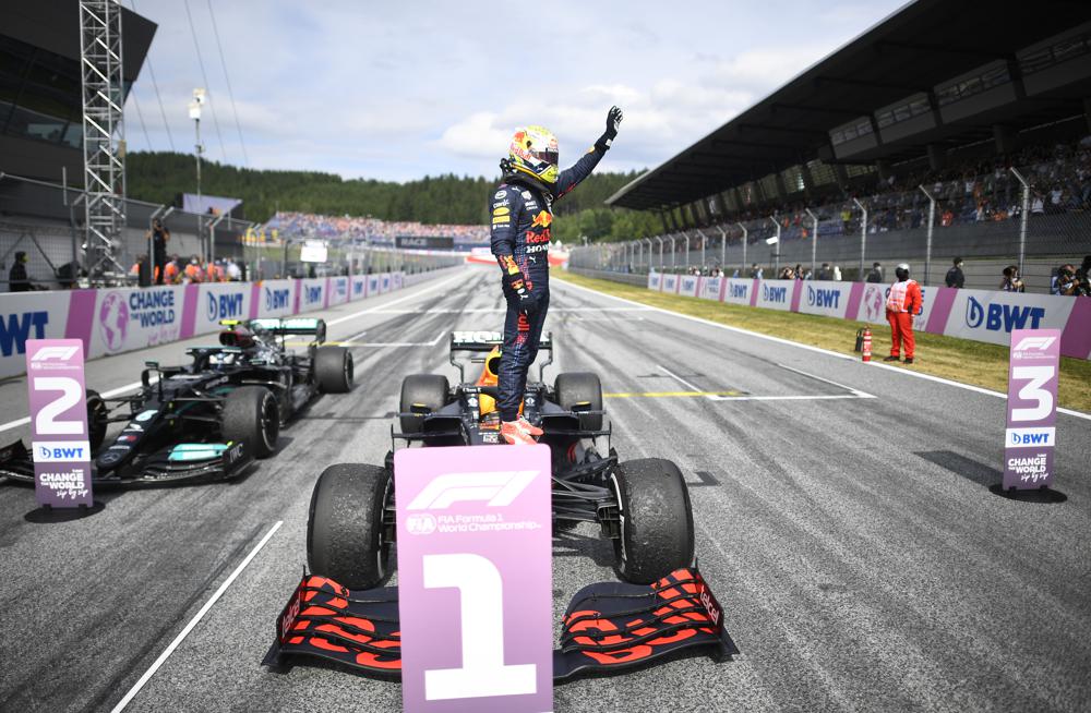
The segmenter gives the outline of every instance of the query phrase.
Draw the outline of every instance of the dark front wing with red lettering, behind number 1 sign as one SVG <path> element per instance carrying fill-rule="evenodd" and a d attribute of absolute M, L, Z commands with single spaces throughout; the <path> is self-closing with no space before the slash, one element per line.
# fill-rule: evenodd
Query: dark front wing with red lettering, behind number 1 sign
<path fill-rule="evenodd" d="M 668 656 L 708 654 L 721 661 L 739 652 L 723 628 L 723 611 L 696 569 L 680 569 L 650 587 L 585 587 L 562 624 L 561 646 L 553 652 L 558 681 Z M 351 591 L 332 579 L 304 575 L 277 617 L 276 640 L 262 663 L 286 670 L 309 656 L 379 678 L 399 678 L 397 588 Z"/>

